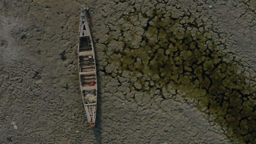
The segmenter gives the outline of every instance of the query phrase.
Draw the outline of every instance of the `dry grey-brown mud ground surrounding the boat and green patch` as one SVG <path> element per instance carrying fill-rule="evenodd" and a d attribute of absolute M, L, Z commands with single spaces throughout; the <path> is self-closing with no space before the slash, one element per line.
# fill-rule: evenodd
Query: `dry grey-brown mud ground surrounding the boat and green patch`
<path fill-rule="evenodd" d="M 254 77 L 253 0 L 165 1 L 172 3 L 173 16 L 189 11 L 205 30 L 219 32 L 224 52 Z M 163 8 L 165 2 L 159 2 L 153 7 Z M 129 73 L 121 71 L 123 78 L 117 79 L 106 72 L 118 70 L 108 63 L 111 53 L 106 53 L 111 51 L 106 47 L 110 29 L 132 7 L 152 7 L 149 4 L 148 0 L 0 0 L 0 143 L 230 143 L 220 126 L 209 123 L 193 103 L 178 97 L 151 99 L 129 88 Z M 81 7 L 90 8 L 98 56 L 100 94 L 93 129 L 84 117 L 76 70 Z M 36 26 L 40 31 L 34 30 Z"/>

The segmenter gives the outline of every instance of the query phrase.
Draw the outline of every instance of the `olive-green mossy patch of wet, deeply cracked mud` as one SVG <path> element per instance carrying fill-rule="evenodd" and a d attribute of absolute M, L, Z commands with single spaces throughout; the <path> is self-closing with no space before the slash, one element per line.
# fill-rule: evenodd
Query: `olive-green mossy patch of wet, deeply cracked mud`
<path fill-rule="evenodd" d="M 122 44 L 107 53 L 114 53 L 110 62 L 119 70 L 133 72 L 130 88 L 192 101 L 231 141 L 256 142 L 255 82 L 243 74 L 239 62 L 221 52 L 220 41 L 213 41 L 189 16 L 135 11 L 122 18 L 122 35 L 109 34 L 108 49 Z M 143 20 L 143 27 L 132 26 Z"/>

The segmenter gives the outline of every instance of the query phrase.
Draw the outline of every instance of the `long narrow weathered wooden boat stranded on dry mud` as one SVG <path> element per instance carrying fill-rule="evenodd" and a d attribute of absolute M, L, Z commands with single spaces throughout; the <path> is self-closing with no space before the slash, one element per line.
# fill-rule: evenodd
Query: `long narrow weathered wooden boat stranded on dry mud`
<path fill-rule="evenodd" d="M 88 123 L 94 127 L 97 106 L 97 76 L 92 36 L 84 9 L 81 9 L 80 13 L 77 57 L 83 104 Z"/>

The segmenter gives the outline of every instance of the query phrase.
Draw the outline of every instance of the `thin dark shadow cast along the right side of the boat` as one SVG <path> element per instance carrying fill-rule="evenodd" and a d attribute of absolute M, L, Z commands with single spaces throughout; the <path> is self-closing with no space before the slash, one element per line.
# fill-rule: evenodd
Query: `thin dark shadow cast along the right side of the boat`
<path fill-rule="evenodd" d="M 94 46 L 94 52 L 95 52 L 95 57 L 96 57 L 96 70 L 97 70 L 97 110 L 96 110 L 96 122 L 95 122 L 95 127 L 93 128 L 93 133 L 95 136 L 95 140 L 97 144 L 101 143 L 101 133 L 102 133 L 102 126 L 101 126 L 101 82 L 100 82 L 100 72 L 99 72 L 99 62 L 97 60 L 97 51 L 95 49 L 95 41 L 93 39 L 93 24 L 92 24 L 92 19 L 89 11 L 86 11 L 86 17 L 88 20 L 89 28 L 91 31 L 91 36 L 92 36 L 92 42 Z"/>

